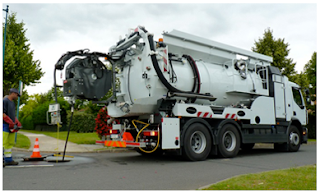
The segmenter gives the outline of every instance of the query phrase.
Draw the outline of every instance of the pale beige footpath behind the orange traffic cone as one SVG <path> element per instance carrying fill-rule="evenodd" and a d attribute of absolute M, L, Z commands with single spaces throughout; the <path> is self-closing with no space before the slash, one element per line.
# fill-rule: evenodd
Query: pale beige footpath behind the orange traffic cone
<path fill-rule="evenodd" d="M 44 134 L 35 134 L 28 133 L 25 131 L 19 131 L 19 133 L 27 136 L 30 139 L 31 145 L 28 150 L 21 148 L 13 148 L 15 150 L 24 150 L 24 151 L 33 151 L 34 143 L 36 138 L 39 140 L 39 149 L 40 152 L 63 152 L 65 146 L 65 139 L 58 140 L 53 137 L 49 137 Z M 111 151 L 107 149 L 103 145 L 95 145 L 95 144 L 76 144 L 68 141 L 66 152 L 68 153 L 84 153 L 84 152 L 100 152 L 100 151 Z"/>

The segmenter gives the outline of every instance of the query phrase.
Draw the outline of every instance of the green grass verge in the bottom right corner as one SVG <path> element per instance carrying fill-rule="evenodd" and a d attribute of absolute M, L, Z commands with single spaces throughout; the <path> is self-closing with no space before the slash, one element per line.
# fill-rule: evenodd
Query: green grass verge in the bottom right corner
<path fill-rule="evenodd" d="M 316 165 L 237 176 L 204 190 L 316 190 Z"/>

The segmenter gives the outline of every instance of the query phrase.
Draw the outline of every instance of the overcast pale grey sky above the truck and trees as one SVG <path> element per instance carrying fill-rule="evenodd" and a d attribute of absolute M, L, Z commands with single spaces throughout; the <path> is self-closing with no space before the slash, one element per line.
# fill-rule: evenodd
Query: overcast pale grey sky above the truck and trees
<path fill-rule="evenodd" d="M 296 71 L 317 51 L 317 4 L 39 4 L 4 3 L 41 61 L 41 84 L 26 87 L 28 94 L 45 93 L 53 86 L 54 64 L 67 51 L 89 48 L 107 53 L 138 25 L 154 33 L 177 29 L 235 47 L 251 50 L 266 29 L 289 43 Z M 5 12 L 2 14 L 5 17 Z M 4 22 L 4 19 L 3 19 Z M 64 74 L 64 71 L 63 71 Z M 64 75 L 63 75 L 64 77 Z M 60 71 L 58 71 L 58 83 Z"/>

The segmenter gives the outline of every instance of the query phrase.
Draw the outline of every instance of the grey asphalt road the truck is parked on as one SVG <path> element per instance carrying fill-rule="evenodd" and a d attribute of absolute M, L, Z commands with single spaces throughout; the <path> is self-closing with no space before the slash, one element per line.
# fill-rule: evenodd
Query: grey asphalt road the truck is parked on
<path fill-rule="evenodd" d="M 29 154 L 14 152 L 17 160 Z M 316 164 L 316 144 L 295 153 L 255 148 L 201 162 L 136 152 L 68 155 L 75 157 L 64 163 L 20 160 L 18 167 L 3 168 L 3 190 L 195 190 L 240 174 Z"/>

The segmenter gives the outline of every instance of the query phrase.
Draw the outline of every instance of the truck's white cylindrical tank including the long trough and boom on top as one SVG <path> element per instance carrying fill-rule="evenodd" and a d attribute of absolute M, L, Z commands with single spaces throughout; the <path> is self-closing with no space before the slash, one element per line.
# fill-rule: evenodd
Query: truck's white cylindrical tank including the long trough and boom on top
<path fill-rule="evenodd" d="M 163 37 L 154 42 L 144 28 L 137 28 L 111 49 L 112 57 L 125 57 L 116 64 L 121 71 L 116 102 L 108 105 L 110 116 L 152 114 L 169 91 L 209 94 L 216 100 L 173 99 L 215 107 L 249 107 L 251 99 L 269 95 L 271 57 L 176 30 Z M 237 60 L 238 54 L 247 59 Z"/>

